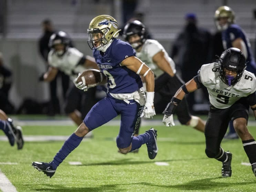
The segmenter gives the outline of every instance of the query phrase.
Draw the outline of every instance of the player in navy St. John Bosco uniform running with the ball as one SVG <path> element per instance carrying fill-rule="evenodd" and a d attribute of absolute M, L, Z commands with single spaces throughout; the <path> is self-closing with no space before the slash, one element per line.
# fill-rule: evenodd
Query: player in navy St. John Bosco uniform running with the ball
<path fill-rule="evenodd" d="M 134 127 L 143 113 L 146 118 L 155 115 L 154 73 L 145 63 L 136 58 L 129 43 L 116 39 L 119 35 L 117 21 L 109 15 L 95 17 L 88 28 L 88 44 L 100 70 L 107 76 L 107 96 L 96 103 L 78 129 L 65 141 L 50 163 L 33 162 L 32 166 L 52 177 L 62 161 L 80 144 L 83 137 L 117 115 L 121 115 L 120 131 L 116 144 L 122 154 L 147 145 L 150 159 L 154 159 L 158 148 L 156 130 L 134 136 Z M 146 96 L 140 89 L 145 77 Z M 76 87 L 86 91 L 88 87 L 76 82 Z M 144 107 L 143 107 L 144 106 Z"/>

